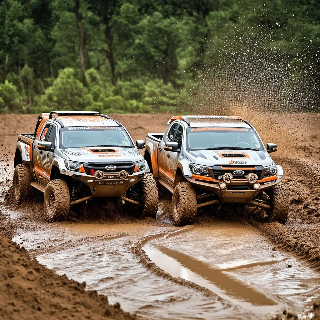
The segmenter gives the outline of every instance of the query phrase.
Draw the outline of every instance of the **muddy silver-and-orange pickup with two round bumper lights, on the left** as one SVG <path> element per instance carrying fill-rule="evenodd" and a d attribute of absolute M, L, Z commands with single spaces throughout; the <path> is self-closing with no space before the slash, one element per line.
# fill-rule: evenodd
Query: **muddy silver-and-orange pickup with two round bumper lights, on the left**
<path fill-rule="evenodd" d="M 148 164 L 122 124 L 99 112 L 43 113 L 34 133 L 20 134 L 14 156 L 17 203 L 32 187 L 44 193 L 49 221 L 93 197 L 127 204 L 136 217 L 155 218 L 158 191 Z M 120 199 L 120 200 L 119 200 Z"/>

